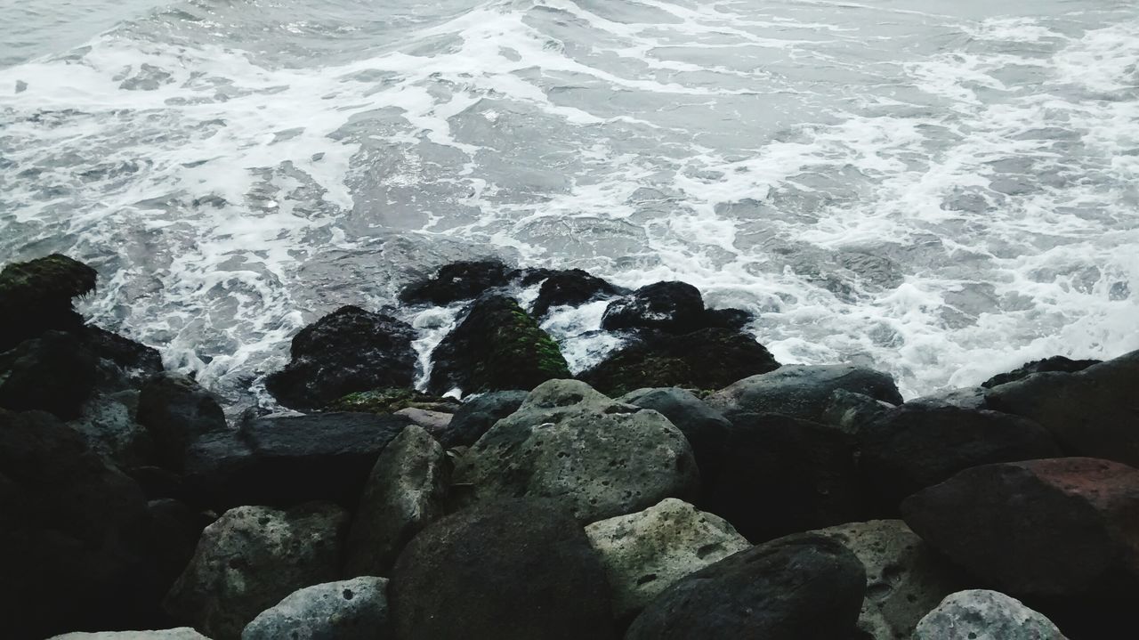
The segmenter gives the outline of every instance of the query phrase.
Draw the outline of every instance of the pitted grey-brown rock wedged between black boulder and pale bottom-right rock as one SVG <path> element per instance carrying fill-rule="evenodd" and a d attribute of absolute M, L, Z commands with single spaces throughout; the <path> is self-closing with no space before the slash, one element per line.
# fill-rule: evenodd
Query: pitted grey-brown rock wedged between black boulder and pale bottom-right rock
<path fill-rule="evenodd" d="M 875 640 L 909 640 L 921 616 L 952 593 L 960 577 L 902 520 L 869 520 L 821 528 L 866 568 L 866 600 L 858 626 Z"/>

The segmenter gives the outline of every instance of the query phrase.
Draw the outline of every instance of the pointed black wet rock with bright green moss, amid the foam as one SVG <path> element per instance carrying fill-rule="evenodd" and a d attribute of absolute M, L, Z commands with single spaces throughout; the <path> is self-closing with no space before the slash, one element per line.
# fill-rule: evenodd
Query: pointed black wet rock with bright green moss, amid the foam
<path fill-rule="evenodd" d="M 518 303 L 487 295 L 475 301 L 432 353 L 432 393 L 531 389 L 551 378 L 568 378 L 557 343 Z"/>

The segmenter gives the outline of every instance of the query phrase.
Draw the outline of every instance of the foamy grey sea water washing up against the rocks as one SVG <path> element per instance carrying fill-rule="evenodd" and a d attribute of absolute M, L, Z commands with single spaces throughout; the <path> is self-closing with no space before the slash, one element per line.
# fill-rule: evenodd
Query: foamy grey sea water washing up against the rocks
<path fill-rule="evenodd" d="M 907 396 L 1139 348 L 1132 2 L 7 3 L 0 255 L 97 266 L 230 400 L 484 255 L 690 281 Z M 577 368 L 603 306 L 548 322 Z"/>

